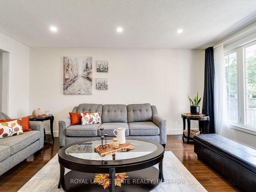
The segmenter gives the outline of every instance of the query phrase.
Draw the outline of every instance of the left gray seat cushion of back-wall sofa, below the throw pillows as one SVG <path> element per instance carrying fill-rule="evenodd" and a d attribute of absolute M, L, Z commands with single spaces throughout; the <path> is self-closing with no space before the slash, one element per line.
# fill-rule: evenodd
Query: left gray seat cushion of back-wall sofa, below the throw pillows
<path fill-rule="evenodd" d="M 101 124 L 89 124 L 89 125 L 71 125 L 66 129 L 67 136 L 98 136 L 98 128 Z"/>

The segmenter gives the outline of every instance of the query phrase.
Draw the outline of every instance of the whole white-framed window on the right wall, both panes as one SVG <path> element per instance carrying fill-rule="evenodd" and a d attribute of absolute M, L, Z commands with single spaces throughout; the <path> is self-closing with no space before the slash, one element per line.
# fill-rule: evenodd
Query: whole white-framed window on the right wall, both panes
<path fill-rule="evenodd" d="M 256 131 L 256 41 L 225 53 L 231 125 Z"/>

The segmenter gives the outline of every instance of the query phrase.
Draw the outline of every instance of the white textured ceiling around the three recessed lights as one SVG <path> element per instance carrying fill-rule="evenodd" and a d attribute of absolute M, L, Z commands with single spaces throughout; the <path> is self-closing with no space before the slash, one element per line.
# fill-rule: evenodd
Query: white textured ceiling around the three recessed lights
<path fill-rule="evenodd" d="M 255 18 L 255 0 L 0 0 L 0 33 L 30 47 L 196 49 Z"/>

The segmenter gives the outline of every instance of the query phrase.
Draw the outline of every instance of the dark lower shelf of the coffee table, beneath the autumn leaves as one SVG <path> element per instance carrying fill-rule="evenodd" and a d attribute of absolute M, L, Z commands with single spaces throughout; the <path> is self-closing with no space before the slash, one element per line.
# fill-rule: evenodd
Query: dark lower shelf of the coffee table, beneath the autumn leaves
<path fill-rule="evenodd" d="M 155 167 L 149 167 L 135 172 L 126 173 L 126 183 L 122 186 L 116 186 L 116 192 L 146 192 L 151 191 L 161 182 L 161 173 Z M 71 170 L 68 172 L 61 183 L 62 189 L 65 191 L 110 191 L 109 188 L 104 189 L 103 186 L 93 183 L 94 174 L 82 173 Z"/>

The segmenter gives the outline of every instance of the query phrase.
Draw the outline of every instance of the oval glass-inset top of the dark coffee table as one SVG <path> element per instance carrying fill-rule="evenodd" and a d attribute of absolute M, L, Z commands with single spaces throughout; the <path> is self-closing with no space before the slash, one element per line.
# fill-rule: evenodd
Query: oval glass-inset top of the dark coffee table
<path fill-rule="evenodd" d="M 137 166 L 140 163 L 151 164 L 150 162 L 155 163 L 163 158 L 164 148 L 159 143 L 143 139 L 126 139 L 126 141 L 133 144 L 135 149 L 128 152 L 116 152 L 115 157 L 112 155 L 101 157 L 94 151 L 94 147 L 101 144 L 101 140 L 76 142 L 59 150 L 59 163 L 73 170 L 77 167 L 101 167 L 102 170 L 109 167 L 129 167 L 135 164 Z M 112 142 L 112 139 L 107 140 L 107 143 L 110 142 Z M 88 170 L 87 168 L 87 172 Z M 80 171 L 82 170 L 80 169 Z M 95 169 L 93 173 L 95 173 Z"/>

